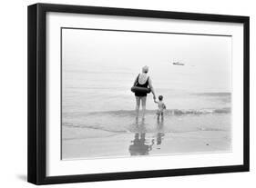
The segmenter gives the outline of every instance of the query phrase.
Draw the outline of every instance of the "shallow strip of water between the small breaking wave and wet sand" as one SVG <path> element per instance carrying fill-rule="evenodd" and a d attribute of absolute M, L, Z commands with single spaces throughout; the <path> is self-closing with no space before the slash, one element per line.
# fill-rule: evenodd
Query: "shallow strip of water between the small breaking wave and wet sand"
<path fill-rule="evenodd" d="M 143 122 L 136 122 L 135 113 L 132 111 L 73 114 L 66 117 L 67 122 L 63 123 L 63 126 L 119 134 L 155 133 L 159 132 L 159 128 L 163 133 L 230 131 L 230 112 L 227 109 L 222 109 L 218 113 L 211 113 L 210 110 L 199 113 L 188 111 L 187 114 L 182 114 L 181 111 L 178 111 L 179 114 L 175 112 L 177 111 L 168 111 L 163 119 L 158 119 L 155 111 L 148 111 Z"/>

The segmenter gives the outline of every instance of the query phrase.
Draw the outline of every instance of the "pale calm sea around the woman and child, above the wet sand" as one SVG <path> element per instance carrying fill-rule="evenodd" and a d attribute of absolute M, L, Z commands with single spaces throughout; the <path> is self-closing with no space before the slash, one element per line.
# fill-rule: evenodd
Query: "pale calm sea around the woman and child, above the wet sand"
<path fill-rule="evenodd" d="M 142 124 L 141 118 L 135 121 L 136 101 L 130 87 L 140 68 L 99 64 L 90 65 L 90 68 L 81 64 L 74 68 L 65 65 L 62 75 L 62 126 L 116 134 L 159 132 L 158 106 L 152 94 L 147 97 L 143 126 L 138 126 Z M 162 133 L 230 132 L 230 87 L 223 91 L 219 84 L 221 80 L 210 82 L 220 79 L 218 74 L 214 78 L 214 70 L 207 75 L 186 64 L 162 64 L 161 68 L 149 66 L 148 75 L 157 96 L 163 95 L 167 106 L 164 126 L 160 130 Z"/>

